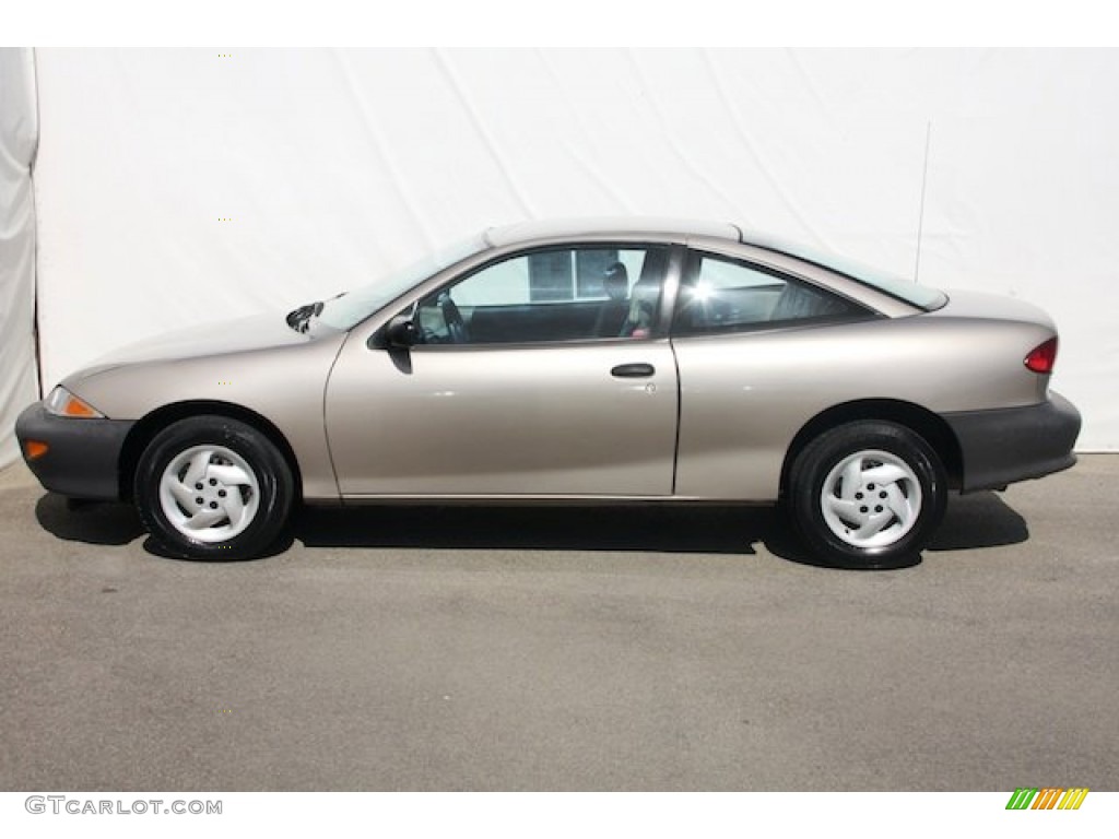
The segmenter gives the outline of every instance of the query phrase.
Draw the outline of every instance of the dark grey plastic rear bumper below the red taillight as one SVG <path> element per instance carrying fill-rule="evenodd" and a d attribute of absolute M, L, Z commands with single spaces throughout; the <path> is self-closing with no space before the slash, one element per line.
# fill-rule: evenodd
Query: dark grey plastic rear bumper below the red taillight
<path fill-rule="evenodd" d="M 1076 462 L 1080 412 L 1051 393 L 1040 405 L 944 414 L 963 456 L 961 492 L 998 489 Z"/>

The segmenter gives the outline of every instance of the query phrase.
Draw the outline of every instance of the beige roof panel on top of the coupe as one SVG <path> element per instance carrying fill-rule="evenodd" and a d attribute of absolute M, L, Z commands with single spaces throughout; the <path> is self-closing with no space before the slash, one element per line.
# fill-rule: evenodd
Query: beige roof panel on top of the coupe
<path fill-rule="evenodd" d="M 600 237 L 614 233 L 626 236 L 648 234 L 656 238 L 711 236 L 732 242 L 742 241 L 742 232 L 728 223 L 642 216 L 520 221 L 505 227 L 491 227 L 486 230 L 483 237 L 490 247 L 505 247 L 506 245 L 519 245 L 537 239 Z"/>

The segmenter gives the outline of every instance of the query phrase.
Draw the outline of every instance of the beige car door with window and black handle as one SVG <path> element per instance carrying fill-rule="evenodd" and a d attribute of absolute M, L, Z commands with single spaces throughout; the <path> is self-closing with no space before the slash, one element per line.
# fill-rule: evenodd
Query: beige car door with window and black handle
<path fill-rule="evenodd" d="M 411 348 L 348 341 L 326 404 L 341 494 L 670 494 L 666 264 L 632 245 L 521 253 L 419 301 Z"/>

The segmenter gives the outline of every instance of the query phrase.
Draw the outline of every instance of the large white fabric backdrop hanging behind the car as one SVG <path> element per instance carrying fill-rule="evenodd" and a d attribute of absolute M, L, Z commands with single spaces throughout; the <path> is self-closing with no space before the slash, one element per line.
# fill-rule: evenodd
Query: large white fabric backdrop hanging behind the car
<path fill-rule="evenodd" d="M 1117 51 L 36 57 L 47 387 L 489 225 L 695 216 L 1038 303 L 1079 447 L 1119 447 Z"/>

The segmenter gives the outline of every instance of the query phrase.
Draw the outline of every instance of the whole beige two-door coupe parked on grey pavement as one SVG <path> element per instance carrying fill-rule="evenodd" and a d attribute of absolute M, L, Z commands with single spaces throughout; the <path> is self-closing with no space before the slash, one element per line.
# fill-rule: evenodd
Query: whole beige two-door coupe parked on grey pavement
<path fill-rule="evenodd" d="M 185 330 L 20 417 L 43 486 L 134 501 L 182 556 L 260 553 L 292 505 L 774 503 L 887 567 L 949 490 L 1065 469 L 1056 330 L 728 224 L 525 223 L 368 287 Z"/>

